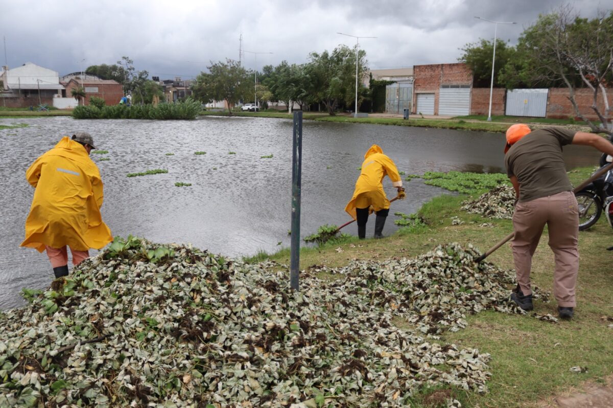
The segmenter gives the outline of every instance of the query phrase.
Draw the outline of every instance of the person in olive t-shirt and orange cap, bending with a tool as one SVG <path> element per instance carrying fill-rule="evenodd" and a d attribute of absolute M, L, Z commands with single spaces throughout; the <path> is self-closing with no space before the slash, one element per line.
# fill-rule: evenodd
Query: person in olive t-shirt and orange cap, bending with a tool
<path fill-rule="evenodd" d="M 582 144 L 612 154 L 613 144 L 592 133 L 547 127 L 530 131 L 525 124 L 506 132 L 504 165 L 517 194 L 513 213 L 512 242 L 517 289 L 511 299 L 532 310 L 530 269 L 543 228 L 549 229 L 549 247 L 554 252 L 554 296 L 560 317 L 573 317 L 575 285 L 579 272 L 579 212 L 573 186 L 568 180 L 562 146 Z"/>

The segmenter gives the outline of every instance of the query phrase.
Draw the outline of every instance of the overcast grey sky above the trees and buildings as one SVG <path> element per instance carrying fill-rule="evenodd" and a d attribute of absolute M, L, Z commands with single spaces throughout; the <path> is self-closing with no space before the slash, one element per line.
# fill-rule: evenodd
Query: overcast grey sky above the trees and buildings
<path fill-rule="evenodd" d="M 360 40 L 371 69 L 457 62 L 459 48 L 479 38 L 516 43 L 539 13 L 569 3 L 582 17 L 613 9 L 613 0 L 17 0 L 2 1 L 0 35 L 6 61 L 34 62 L 64 75 L 121 56 L 138 70 L 164 78 L 189 78 L 210 61 L 238 59 L 251 69 L 286 60 L 302 63 L 311 51 Z M 4 43 L 2 44 L 4 45 Z M 83 61 L 85 60 L 85 61 Z"/>

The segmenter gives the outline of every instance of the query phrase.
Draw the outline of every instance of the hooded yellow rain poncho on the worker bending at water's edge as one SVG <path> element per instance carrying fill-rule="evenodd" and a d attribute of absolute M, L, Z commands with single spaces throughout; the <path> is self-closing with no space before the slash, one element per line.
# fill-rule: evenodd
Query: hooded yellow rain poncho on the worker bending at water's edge
<path fill-rule="evenodd" d="M 383 177 L 389 176 L 394 187 L 402 187 L 402 179 L 394 161 L 383 154 L 381 147 L 373 144 L 364 155 L 362 172 L 356 182 L 356 190 L 345 211 L 356 219 L 356 208 L 373 206 L 374 211 L 389 208 L 389 200 L 383 191 Z"/>

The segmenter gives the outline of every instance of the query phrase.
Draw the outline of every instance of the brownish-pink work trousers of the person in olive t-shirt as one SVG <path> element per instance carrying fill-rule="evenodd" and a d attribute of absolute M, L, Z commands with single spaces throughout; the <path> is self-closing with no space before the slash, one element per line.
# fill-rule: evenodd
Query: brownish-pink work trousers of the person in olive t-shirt
<path fill-rule="evenodd" d="M 513 213 L 515 237 L 513 259 L 522 293 L 529 295 L 532 255 L 538 246 L 543 228 L 549 229 L 549 247 L 554 251 L 554 296 L 558 306 L 574 307 L 575 284 L 579 272 L 579 212 L 571 191 L 563 191 L 527 202 L 518 202 Z"/>

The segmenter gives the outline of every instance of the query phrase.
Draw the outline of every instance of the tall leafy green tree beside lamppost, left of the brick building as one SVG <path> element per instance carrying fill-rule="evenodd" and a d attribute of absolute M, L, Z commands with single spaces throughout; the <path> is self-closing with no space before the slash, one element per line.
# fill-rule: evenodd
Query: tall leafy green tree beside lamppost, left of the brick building
<path fill-rule="evenodd" d="M 359 51 L 358 78 L 368 70 L 366 53 Z M 346 45 L 338 46 L 329 53 L 311 53 L 310 62 L 305 66 L 305 75 L 310 78 L 305 92 L 313 102 L 322 102 L 333 116 L 339 102 L 350 104 L 355 100 L 356 53 Z M 362 81 L 359 81 L 361 85 Z M 364 87 L 364 86 L 362 86 Z M 364 93 L 359 92 L 359 99 Z M 358 101 L 359 104 L 360 101 Z"/>

